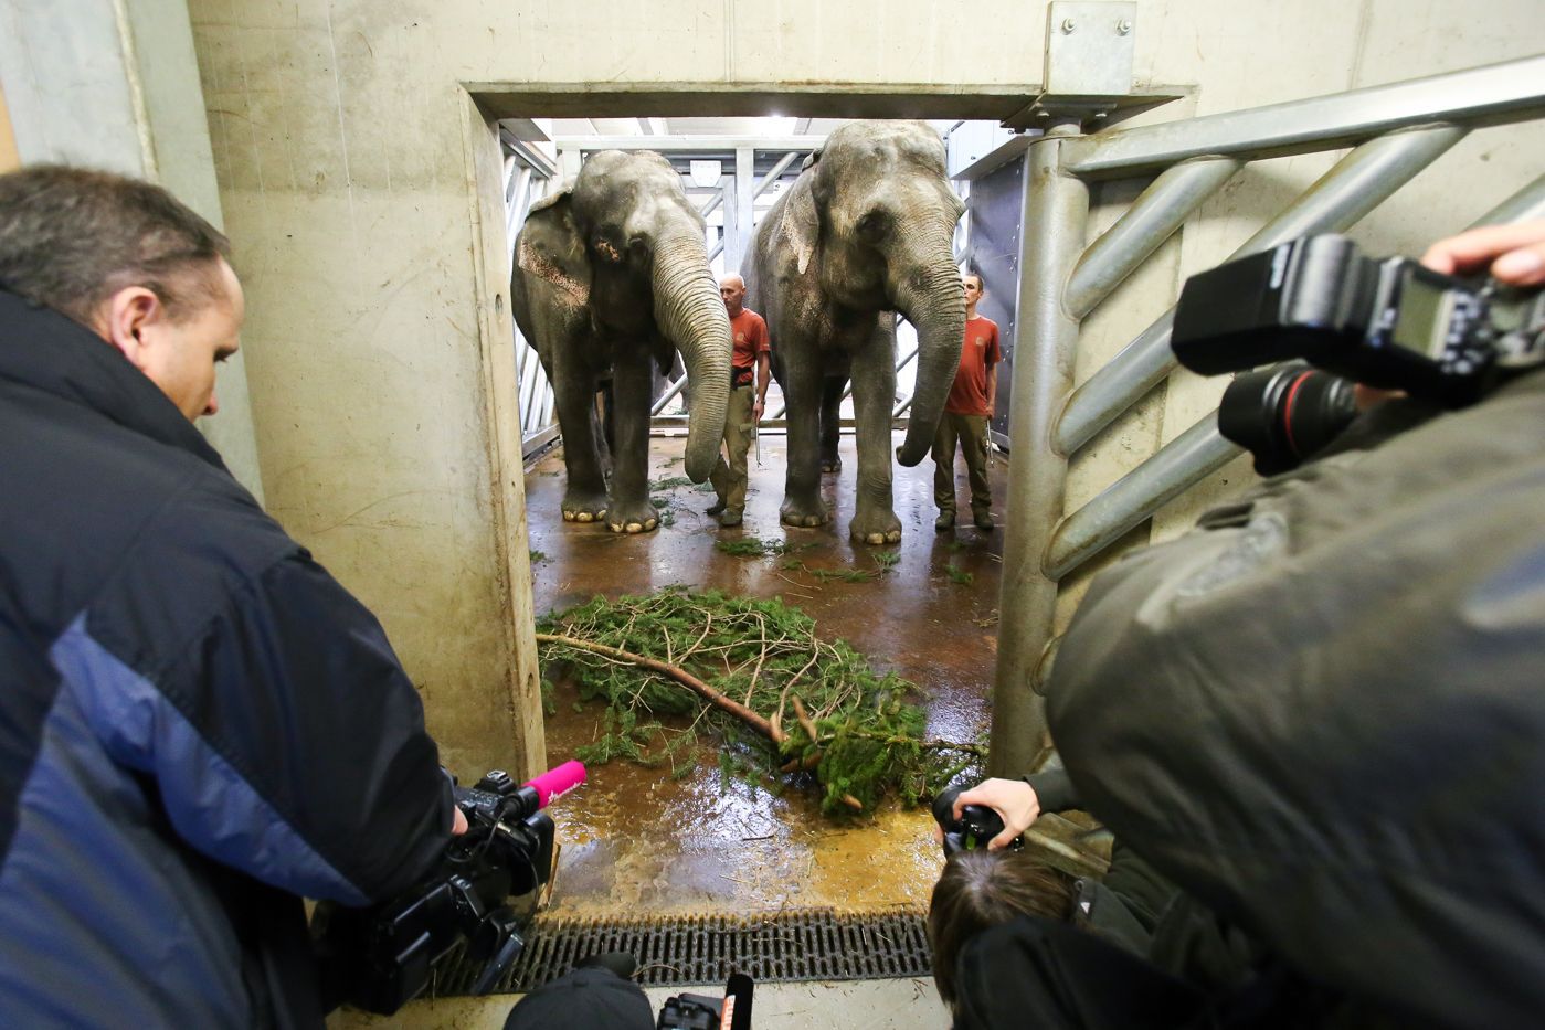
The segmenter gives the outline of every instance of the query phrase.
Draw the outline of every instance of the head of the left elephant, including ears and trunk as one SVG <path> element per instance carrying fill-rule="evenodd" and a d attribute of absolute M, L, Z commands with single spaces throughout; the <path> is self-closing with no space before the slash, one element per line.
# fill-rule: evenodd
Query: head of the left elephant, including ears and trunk
<path fill-rule="evenodd" d="M 666 366 L 663 347 L 680 351 L 692 388 L 684 468 L 694 482 L 718 457 L 732 349 L 703 235 L 703 216 L 664 158 L 607 150 L 533 205 L 518 255 L 572 307 L 587 306 L 604 337 L 654 343 Z"/>

